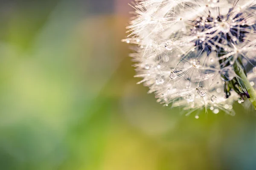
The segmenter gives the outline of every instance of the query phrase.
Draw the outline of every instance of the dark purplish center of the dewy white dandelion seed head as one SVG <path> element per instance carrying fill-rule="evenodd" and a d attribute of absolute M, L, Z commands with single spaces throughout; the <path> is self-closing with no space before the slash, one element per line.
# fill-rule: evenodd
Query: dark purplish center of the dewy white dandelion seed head
<path fill-rule="evenodd" d="M 204 49 L 208 54 L 212 51 L 227 51 L 227 48 L 223 48 L 224 45 L 232 47 L 244 42 L 250 30 L 255 30 L 255 25 L 247 23 L 242 12 L 235 14 L 233 8 L 230 8 L 227 15 L 216 18 L 211 15 L 199 17 L 193 23 L 191 31 L 198 35 L 195 46 L 198 50 Z"/>

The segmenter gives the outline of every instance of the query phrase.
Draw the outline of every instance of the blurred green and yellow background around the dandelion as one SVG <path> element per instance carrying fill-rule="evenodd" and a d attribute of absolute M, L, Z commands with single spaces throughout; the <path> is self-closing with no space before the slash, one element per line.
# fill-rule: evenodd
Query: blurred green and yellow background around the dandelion
<path fill-rule="evenodd" d="M 129 1 L 0 1 L 1 170 L 256 169 L 255 111 L 195 119 L 136 85 Z"/>

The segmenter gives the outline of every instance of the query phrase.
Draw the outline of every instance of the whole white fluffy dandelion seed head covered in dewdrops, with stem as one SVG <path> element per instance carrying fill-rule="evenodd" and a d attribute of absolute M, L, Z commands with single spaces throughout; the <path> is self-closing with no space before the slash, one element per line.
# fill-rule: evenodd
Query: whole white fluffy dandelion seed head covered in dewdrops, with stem
<path fill-rule="evenodd" d="M 165 106 L 256 108 L 256 0 L 136 0 L 128 38 L 137 75 Z"/>

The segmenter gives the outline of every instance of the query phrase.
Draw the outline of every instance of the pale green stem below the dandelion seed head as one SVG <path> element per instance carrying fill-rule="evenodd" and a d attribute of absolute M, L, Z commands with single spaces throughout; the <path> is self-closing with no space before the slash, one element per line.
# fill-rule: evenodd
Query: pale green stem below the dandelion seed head
<path fill-rule="evenodd" d="M 242 86 L 245 86 L 248 94 L 250 95 L 249 100 L 253 104 L 254 109 L 256 110 L 256 92 L 254 88 L 250 85 L 250 82 L 242 69 L 243 67 L 238 61 L 236 61 L 235 64 L 233 65 L 233 68 L 236 74 L 239 76 L 238 79 L 240 79 L 243 82 Z"/>

